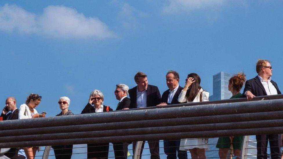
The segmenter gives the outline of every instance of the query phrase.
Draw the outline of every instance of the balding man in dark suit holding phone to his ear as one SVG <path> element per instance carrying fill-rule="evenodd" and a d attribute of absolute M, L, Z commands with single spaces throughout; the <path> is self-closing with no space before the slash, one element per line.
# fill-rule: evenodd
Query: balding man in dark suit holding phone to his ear
<path fill-rule="evenodd" d="M 10 113 L 8 113 L 11 111 Z M 6 106 L 3 108 L 1 117 L 3 120 L 17 120 L 19 115 L 19 109 L 17 108 L 17 101 L 14 97 L 8 97 L 6 99 Z M 8 152 L 4 153 L 9 158 L 18 158 L 17 148 L 11 148 Z"/>

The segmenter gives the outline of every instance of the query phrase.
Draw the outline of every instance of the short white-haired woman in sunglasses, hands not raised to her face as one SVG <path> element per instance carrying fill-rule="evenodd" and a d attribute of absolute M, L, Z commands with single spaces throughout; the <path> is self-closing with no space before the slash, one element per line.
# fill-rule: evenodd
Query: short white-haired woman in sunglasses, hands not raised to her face
<path fill-rule="evenodd" d="M 58 104 L 59 108 L 61 109 L 60 114 L 57 114 L 56 116 L 65 116 L 65 115 L 74 115 L 70 110 L 70 98 L 64 96 L 60 97 Z M 70 159 L 73 153 L 73 145 L 57 145 L 52 146 L 55 154 L 56 159 L 64 158 L 64 159 Z"/>

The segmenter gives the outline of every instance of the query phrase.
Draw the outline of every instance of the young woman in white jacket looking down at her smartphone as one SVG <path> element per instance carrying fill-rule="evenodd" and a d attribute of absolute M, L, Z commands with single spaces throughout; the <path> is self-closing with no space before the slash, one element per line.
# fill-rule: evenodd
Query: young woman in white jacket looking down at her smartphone
<path fill-rule="evenodd" d="M 42 118 L 45 117 L 45 114 L 38 114 L 35 107 L 41 102 L 41 96 L 38 94 L 30 94 L 27 97 L 26 103 L 22 104 L 19 109 L 19 119 L 30 119 L 30 118 Z M 26 156 L 28 159 L 34 159 L 36 150 L 39 150 L 39 147 L 23 147 Z"/>

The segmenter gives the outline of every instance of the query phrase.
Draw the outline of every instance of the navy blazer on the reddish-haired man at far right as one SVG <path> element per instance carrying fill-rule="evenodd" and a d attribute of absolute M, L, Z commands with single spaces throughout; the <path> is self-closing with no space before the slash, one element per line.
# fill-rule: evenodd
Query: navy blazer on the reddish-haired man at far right
<path fill-rule="evenodd" d="M 277 94 L 281 94 L 277 86 L 277 83 L 275 83 L 272 80 L 270 82 L 274 85 L 275 89 L 277 90 Z M 260 78 L 258 78 L 258 76 L 246 81 L 244 92 L 243 92 L 243 97 L 246 97 L 245 96 L 246 91 L 251 91 L 252 94 L 255 96 L 267 96 L 266 91 L 262 83 L 260 82 Z"/>

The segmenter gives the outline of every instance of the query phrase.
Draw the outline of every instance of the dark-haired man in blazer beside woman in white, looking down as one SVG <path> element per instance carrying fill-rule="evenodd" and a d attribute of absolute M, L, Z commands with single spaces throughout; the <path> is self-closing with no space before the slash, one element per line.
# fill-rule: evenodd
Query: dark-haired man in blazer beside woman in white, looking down
<path fill-rule="evenodd" d="M 166 74 L 167 89 L 161 97 L 161 105 L 179 104 L 178 97 L 182 92 L 183 87 L 179 86 L 179 74 L 176 71 L 170 70 Z M 164 152 L 167 155 L 167 159 L 177 159 L 176 152 L 178 152 L 179 159 L 187 159 L 187 151 L 179 150 L 180 139 L 176 140 L 164 140 Z"/>

